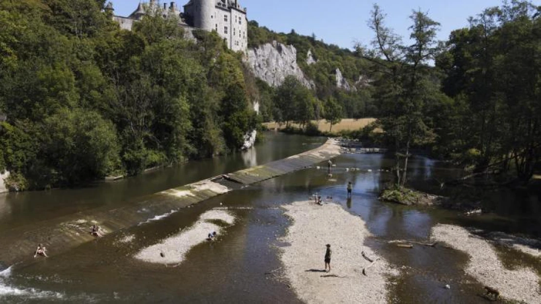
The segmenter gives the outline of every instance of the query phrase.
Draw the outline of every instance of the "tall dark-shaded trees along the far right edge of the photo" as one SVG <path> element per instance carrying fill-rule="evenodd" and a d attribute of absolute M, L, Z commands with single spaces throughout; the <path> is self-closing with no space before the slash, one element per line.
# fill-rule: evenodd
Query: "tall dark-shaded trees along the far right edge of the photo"
<path fill-rule="evenodd" d="M 541 161 L 541 21 L 529 1 L 504 2 L 451 33 L 436 64 L 443 91 L 454 99 L 442 152 L 485 170 L 514 167 L 520 180 Z M 475 151 L 476 153 L 472 153 Z"/>

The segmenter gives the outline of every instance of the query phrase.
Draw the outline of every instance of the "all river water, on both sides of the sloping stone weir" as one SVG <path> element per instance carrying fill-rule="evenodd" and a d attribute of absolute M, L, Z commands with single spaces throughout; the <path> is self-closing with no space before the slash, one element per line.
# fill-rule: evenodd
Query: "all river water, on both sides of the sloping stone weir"
<path fill-rule="evenodd" d="M 21 225 L 20 222 L 39 225 L 43 219 L 104 204 L 111 208 L 129 204 L 141 195 L 260 165 L 309 150 L 324 141 L 272 133 L 267 139 L 248 154 L 166 168 L 113 184 L 7 195 L 5 202 L 0 203 L 3 206 L 0 207 L 0 229 Z M 280 247 L 287 246 L 279 239 L 285 235 L 290 222 L 280 206 L 307 200 L 314 193 L 332 196 L 335 202 L 366 221 L 374 236 L 359 246 L 374 248 L 400 269 L 400 276 L 390 287 L 390 301 L 395 303 L 484 303 L 486 300 L 479 296 L 482 286 L 464 275 L 465 254 L 444 247 L 398 249 L 388 244 L 388 240 L 424 241 L 438 223 L 540 237 L 538 206 L 541 204 L 536 194 L 494 194 L 493 199 L 484 202 L 493 214 L 464 217 L 456 211 L 378 201 L 379 191 L 392 180 L 385 168 L 392 166 L 393 160 L 384 155 L 345 154 L 335 159 L 335 163 L 337 167 L 331 180 L 325 170 L 309 168 L 204 201 L 160 221 L 112 233 L 23 268 L 8 269 L 0 273 L 0 302 L 298 303 L 287 282 L 274 273 L 266 273 L 281 267 Z M 361 170 L 345 170 L 351 167 Z M 413 159 L 410 170 L 412 183 L 426 188 L 437 186 L 438 180 L 453 179 L 460 174 L 426 158 Z M 346 198 L 348 181 L 354 185 L 351 200 Z M 52 206 L 42 206 L 41 202 Z M 140 248 L 189 227 L 208 210 L 223 207 L 235 215 L 235 225 L 226 229 L 219 242 L 194 247 L 180 266 L 150 265 L 133 258 Z M 122 242 L 127 236 L 133 237 L 133 241 Z M 2 245 L 4 250 L 9 248 L 9 244 Z M 541 274 L 539 260 L 504 248 L 498 250 L 509 267 L 530 266 Z M 444 289 L 446 284 L 452 288 Z"/>

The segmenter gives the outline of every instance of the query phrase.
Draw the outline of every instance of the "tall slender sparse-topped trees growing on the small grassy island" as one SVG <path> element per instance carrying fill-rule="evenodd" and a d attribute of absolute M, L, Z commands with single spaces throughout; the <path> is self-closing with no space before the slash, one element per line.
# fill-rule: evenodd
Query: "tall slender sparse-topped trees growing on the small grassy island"
<path fill-rule="evenodd" d="M 404 45 L 401 37 L 385 25 L 385 14 L 375 4 L 368 21 L 375 34 L 372 49 L 357 46 L 357 52 L 373 63 L 374 72 L 380 76 L 375 94 L 381 105 L 377 123 L 385 130 L 387 140 L 394 144 L 400 187 L 407 180 L 411 147 L 431 143 L 435 138 L 425 121 L 424 111 L 434 98 L 431 93 L 437 93 L 429 79 L 428 63 L 439 50 L 436 33 L 440 24 L 420 10 L 413 11 L 410 19 L 412 44 Z"/>

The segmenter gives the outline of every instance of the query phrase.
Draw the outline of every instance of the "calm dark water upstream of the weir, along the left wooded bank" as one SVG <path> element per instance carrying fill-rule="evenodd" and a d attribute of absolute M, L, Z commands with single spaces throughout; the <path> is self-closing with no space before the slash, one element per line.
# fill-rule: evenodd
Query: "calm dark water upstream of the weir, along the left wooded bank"
<path fill-rule="evenodd" d="M 263 133 L 265 140 L 246 153 L 154 170 L 136 177 L 111 183 L 96 183 L 87 187 L 0 194 L 0 229 L 33 224 L 102 206 L 130 204 L 144 195 L 168 190 L 249 166 L 266 164 L 298 154 L 324 143 L 325 138 L 288 136 L 282 133 Z M 306 145 L 308 143 L 308 145 Z"/>

